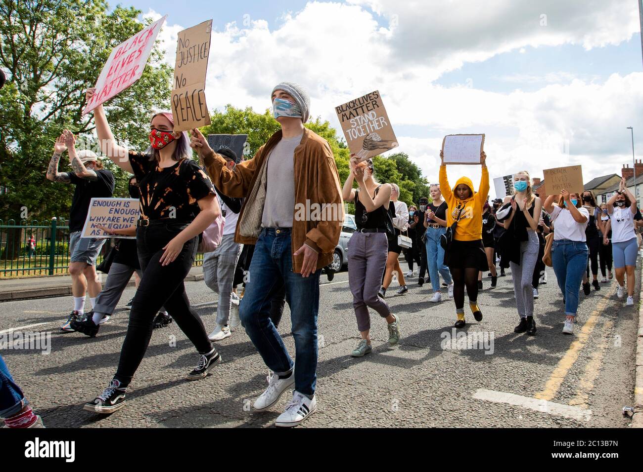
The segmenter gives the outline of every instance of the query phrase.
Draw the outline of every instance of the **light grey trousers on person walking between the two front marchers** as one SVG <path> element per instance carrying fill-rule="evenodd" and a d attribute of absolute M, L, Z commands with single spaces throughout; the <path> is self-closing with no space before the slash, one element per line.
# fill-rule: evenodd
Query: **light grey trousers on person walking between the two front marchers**
<path fill-rule="evenodd" d="M 230 319 L 230 293 L 239 254 L 241 245 L 235 243 L 234 234 L 226 234 L 217 249 L 203 254 L 203 279 L 210 290 L 219 295 L 217 325 L 220 326 L 228 324 Z"/>

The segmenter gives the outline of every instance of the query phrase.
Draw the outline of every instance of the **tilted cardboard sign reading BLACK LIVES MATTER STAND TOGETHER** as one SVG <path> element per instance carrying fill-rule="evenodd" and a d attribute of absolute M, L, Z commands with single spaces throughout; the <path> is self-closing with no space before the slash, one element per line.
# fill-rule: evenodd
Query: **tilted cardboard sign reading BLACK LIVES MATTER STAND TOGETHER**
<path fill-rule="evenodd" d="M 350 153 L 359 162 L 397 148 L 397 138 L 379 91 L 335 107 Z"/>

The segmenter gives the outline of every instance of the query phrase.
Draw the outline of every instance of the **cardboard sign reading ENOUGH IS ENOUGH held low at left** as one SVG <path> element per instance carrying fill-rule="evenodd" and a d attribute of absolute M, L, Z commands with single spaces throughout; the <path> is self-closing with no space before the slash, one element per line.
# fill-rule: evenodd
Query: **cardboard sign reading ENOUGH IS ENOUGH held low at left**
<path fill-rule="evenodd" d="M 126 229 L 136 226 L 140 207 L 136 198 L 92 198 L 81 238 L 127 238 L 136 236 L 111 236 L 98 226 L 107 229 Z"/>

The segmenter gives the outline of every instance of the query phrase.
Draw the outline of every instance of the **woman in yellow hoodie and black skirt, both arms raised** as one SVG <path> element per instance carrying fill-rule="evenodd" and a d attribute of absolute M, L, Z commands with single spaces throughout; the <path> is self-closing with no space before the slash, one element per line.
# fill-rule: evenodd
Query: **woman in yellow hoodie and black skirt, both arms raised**
<path fill-rule="evenodd" d="M 486 164 L 487 155 L 480 153 L 482 164 L 482 178 L 478 193 L 473 189 L 473 182 L 469 177 L 460 177 L 451 190 L 446 177 L 446 164 L 444 155 L 440 152 L 440 189 L 442 197 L 449 205 L 447 211 L 447 225 L 454 222 L 458 225 L 453 234 L 451 247 L 444 254 L 444 263 L 449 266 L 453 277 L 453 300 L 458 320 L 456 328 L 463 328 L 464 320 L 464 287 L 469 295 L 469 307 L 476 321 L 482 321 L 482 311 L 478 307 L 478 272 L 487 270 L 487 256 L 482 245 L 482 210 L 487 195 L 489 195 L 489 171 Z"/>

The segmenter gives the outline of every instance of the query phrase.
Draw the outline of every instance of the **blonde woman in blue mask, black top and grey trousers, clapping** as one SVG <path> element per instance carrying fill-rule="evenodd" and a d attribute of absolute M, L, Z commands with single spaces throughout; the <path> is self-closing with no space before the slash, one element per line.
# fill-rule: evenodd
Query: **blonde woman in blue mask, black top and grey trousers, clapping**
<path fill-rule="evenodd" d="M 532 279 L 539 250 L 536 230 L 543 204 L 540 198 L 532 193 L 531 179 L 527 171 L 514 175 L 514 194 L 512 197 L 505 197 L 505 204 L 511 205 L 511 210 L 503 219 L 503 225 L 512 238 L 505 233 L 503 241 L 506 241 L 507 247 L 503 248 L 503 255 L 507 254 L 510 261 L 516 309 L 520 316 L 520 323 L 514 328 L 514 333 L 527 331 L 528 335 L 535 335 Z"/>

